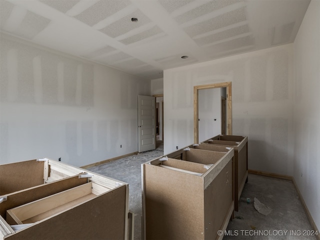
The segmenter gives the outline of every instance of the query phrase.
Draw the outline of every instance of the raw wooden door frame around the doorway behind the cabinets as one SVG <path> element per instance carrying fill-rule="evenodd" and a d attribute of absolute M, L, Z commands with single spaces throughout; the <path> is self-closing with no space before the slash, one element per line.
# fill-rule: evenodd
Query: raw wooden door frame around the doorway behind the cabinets
<path fill-rule="evenodd" d="M 226 134 L 232 135 L 232 91 L 231 81 L 212 83 L 206 85 L 193 86 L 193 139 L 194 143 L 199 143 L 199 109 L 198 109 L 198 90 L 208 88 L 226 87 L 226 104 L 227 104 L 227 119 L 226 119 Z"/>

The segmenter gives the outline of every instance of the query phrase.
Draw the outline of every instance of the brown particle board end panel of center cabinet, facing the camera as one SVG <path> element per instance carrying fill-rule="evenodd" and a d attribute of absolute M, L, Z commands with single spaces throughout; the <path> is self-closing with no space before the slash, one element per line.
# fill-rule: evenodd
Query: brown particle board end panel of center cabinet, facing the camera
<path fill-rule="evenodd" d="M 202 178 L 144 165 L 146 239 L 203 237 Z"/>

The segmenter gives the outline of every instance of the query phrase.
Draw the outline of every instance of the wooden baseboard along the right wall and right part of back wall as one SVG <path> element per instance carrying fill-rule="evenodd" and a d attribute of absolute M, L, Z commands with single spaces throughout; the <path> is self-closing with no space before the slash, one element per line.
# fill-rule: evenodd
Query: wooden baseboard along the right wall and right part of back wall
<path fill-rule="evenodd" d="M 275 177 L 275 178 L 280 178 L 280 179 L 285 179 L 285 180 L 291 180 L 293 185 L 294 185 L 294 188 L 295 188 L 295 190 L 296 190 L 296 192 L 298 194 L 298 197 L 299 197 L 299 199 L 301 201 L 301 204 L 302 204 L 303 209 L 304 209 L 304 211 L 306 213 L 306 216 L 309 219 L 309 222 L 310 222 L 310 224 L 311 224 L 311 226 L 313 228 L 313 230 L 318 232 L 318 235 L 315 236 L 315 237 L 316 237 L 316 239 L 320 240 L 320 232 L 319 232 L 318 228 L 315 225 L 315 222 L 314 222 L 314 220 L 313 220 L 313 218 L 312 218 L 312 216 L 311 216 L 311 214 L 309 212 L 309 209 L 307 208 L 307 206 L 305 204 L 305 201 L 304 201 L 304 199 L 303 199 L 303 197 L 301 195 L 301 192 L 300 192 L 300 190 L 299 190 L 299 188 L 298 188 L 293 176 L 276 174 L 276 173 L 265 172 L 265 171 L 257 171 L 257 170 L 251 170 L 251 169 L 248 170 L 248 173 L 252 173 L 252 174 L 256 174 L 256 175 L 262 175 L 262 176 Z"/>

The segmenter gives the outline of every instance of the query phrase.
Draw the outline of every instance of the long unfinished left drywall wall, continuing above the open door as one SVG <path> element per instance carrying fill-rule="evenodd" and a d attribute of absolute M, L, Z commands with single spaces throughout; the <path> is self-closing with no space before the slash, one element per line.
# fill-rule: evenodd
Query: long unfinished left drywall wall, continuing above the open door
<path fill-rule="evenodd" d="M 137 151 L 150 81 L 1 33 L 0 162 L 82 166 Z M 121 147 L 120 147 L 121 145 Z"/>

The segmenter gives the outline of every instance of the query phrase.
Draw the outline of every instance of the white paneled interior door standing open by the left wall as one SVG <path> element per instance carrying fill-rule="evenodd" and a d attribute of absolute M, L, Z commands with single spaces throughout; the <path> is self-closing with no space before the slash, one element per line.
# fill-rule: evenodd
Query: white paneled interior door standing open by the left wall
<path fill-rule="evenodd" d="M 138 151 L 155 149 L 155 97 L 138 95 Z"/>

